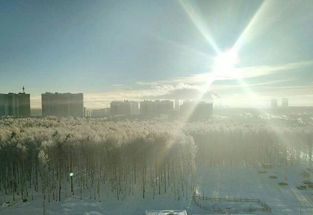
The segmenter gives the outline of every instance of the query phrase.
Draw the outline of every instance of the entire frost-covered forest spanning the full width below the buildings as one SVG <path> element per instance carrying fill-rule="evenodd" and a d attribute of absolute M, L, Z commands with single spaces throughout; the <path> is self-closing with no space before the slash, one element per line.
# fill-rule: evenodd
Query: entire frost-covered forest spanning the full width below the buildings
<path fill-rule="evenodd" d="M 1 118 L 0 192 L 43 203 L 77 195 L 101 202 L 153 190 L 188 198 L 205 166 L 312 165 L 312 126 L 276 127 L 213 119 L 106 121 Z M 85 196 L 84 196 L 85 195 Z"/>

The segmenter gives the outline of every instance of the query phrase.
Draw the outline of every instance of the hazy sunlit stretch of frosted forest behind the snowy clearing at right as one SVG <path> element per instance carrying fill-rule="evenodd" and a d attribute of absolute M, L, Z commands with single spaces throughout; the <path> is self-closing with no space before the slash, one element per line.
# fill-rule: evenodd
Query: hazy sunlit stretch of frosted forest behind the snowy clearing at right
<path fill-rule="evenodd" d="M 290 127 L 218 120 L 186 124 L 183 130 L 195 141 L 198 165 L 312 165 L 312 125 Z"/>

